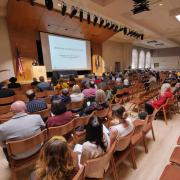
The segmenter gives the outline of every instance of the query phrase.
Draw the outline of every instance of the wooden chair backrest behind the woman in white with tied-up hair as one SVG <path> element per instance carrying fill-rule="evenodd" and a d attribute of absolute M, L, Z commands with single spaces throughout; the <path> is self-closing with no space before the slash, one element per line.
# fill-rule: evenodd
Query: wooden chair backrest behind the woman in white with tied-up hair
<path fill-rule="evenodd" d="M 116 148 L 115 149 L 118 150 L 118 151 L 125 150 L 129 146 L 129 144 L 131 142 L 131 137 L 132 137 L 133 134 L 134 134 L 134 129 L 127 136 L 124 136 L 124 137 L 117 136 L 117 143 L 116 143 Z"/>

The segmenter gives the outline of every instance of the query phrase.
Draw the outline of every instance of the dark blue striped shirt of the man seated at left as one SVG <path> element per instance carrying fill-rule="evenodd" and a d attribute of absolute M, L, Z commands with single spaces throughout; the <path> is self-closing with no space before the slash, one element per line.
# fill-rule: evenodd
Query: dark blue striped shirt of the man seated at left
<path fill-rule="evenodd" d="M 34 113 L 47 108 L 47 104 L 42 100 L 33 99 L 26 103 L 27 111 Z"/>

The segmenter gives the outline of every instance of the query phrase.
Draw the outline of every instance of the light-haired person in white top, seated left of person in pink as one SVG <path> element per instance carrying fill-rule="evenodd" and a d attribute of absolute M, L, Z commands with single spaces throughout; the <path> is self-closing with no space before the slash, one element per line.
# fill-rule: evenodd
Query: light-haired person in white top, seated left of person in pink
<path fill-rule="evenodd" d="M 74 85 L 72 88 L 72 94 L 70 95 L 71 102 L 79 102 L 84 100 L 84 94 L 78 85 Z"/>

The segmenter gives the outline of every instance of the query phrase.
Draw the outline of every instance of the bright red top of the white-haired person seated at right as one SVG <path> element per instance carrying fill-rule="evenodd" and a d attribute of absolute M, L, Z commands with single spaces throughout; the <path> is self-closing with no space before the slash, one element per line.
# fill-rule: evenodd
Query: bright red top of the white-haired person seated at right
<path fill-rule="evenodd" d="M 159 109 L 161 107 L 161 105 L 163 105 L 164 103 L 166 103 L 166 100 L 168 98 L 171 98 L 173 96 L 172 92 L 170 90 L 166 91 L 164 93 L 164 96 L 160 96 L 159 99 L 155 100 L 152 102 L 152 106 L 154 109 Z M 168 107 L 165 107 L 166 109 Z"/>

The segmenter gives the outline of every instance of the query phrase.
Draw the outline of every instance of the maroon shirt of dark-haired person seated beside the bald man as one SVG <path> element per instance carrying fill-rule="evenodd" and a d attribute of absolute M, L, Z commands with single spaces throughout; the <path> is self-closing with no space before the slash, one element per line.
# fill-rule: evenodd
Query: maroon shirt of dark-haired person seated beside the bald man
<path fill-rule="evenodd" d="M 62 126 L 73 119 L 73 113 L 67 111 L 61 115 L 52 116 L 48 118 L 48 127 Z"/>

